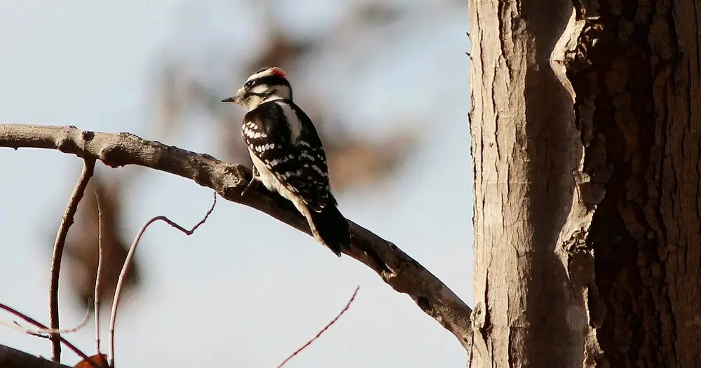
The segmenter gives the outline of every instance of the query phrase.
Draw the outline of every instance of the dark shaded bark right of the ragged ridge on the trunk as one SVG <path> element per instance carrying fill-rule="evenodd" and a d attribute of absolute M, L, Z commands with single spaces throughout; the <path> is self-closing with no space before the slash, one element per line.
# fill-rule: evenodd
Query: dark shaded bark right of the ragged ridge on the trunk
<path fill-rule="evenodd" d="M 701 367 L 701 4 L 576 8 L 569 76 L 585 171 L 605 187 L 586 242 L 597 360 Z"/>

